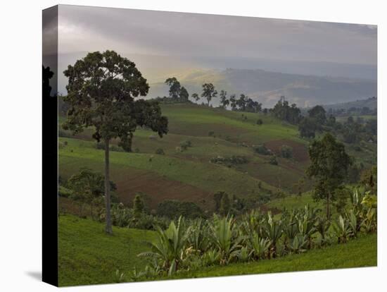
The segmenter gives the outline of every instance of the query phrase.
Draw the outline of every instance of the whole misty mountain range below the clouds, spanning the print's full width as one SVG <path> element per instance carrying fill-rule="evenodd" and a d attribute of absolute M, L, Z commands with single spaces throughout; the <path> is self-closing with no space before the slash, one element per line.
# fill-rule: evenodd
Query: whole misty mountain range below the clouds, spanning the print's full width
<path fill-rule="evenodd" d="M 58 71 L 86 52 L 58 56 Z M 218 92 L 241 93 L 272 107 L 284 95 L 299 107 L 335 104 L 377 95 L 376 66 L 313 61 L 283 61 L 243 57 L 156 56 L 122 54 L 137 64 L 151 89 L 147 98 L 168 95 L 166 78 L 176 77 L 189 94 L 200 95 L 203 83 L 213 83 Z M 58 92 L 65 94 L 67 80 L 61 73 Z M 217 105 L 217 99 L 212 102 Z"/>

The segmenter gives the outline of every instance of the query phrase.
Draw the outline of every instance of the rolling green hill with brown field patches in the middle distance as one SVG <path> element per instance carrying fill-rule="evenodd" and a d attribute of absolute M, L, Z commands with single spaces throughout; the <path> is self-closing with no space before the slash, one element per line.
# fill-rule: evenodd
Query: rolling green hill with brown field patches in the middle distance
<path fill-rule="evenodd" d="M 112 151 L 111 179 L 118 185 L 124 203 L 132 202 L 137 192 L 151 198 L 151 208 L 165 199 L 196 202 L 205 210 L 213 204 L 212 194 L 224 190 L 237 196 L 275 193 L 278 188 L 293 191 L 293 184 L 304 175 L 308 164 L 307 142 L 298 137 L 296 126 L 264 114 L 212 109 L 196 104 L 162 104 L 169 120 L 169 133 L 159 138 L 150 130 L 134 134 L 134 152 Z M 260 118 L 262 125 L 257 125 Z M 65 119 L 60 118 L 60 125 Z M 59 172 L 69 178 L 82 167 L 103 171 L 103 150 L 91 139 L 93 130 L 73 137 L 61 130 Z M 64 136 L 64 137 L 63 137 Z M 189 140 L 191 147 L 180 150 Z M 116 142 L 113 142 L 116 143 Z M 293 148 L 293 158 L 278 157 L 279 165 L 253 151 L 265 143 L 279 154 L 281 145 Z M 165 155 L 155 154 L 162 149 Z M 116 147 L 115 150 L 120 150 Z M 231 167 L 213 164 L 215 157 L 246 157 L 248 163 Z"/>

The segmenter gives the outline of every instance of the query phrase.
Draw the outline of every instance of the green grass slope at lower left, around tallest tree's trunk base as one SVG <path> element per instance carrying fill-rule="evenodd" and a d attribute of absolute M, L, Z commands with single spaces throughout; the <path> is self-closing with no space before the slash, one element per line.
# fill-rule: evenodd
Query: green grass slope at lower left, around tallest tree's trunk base
<path fill-rule="evenodd" d="M 103 227 L 90 219 L 59 217 L 60 286 L 111 283 L 116 269 L 144 268 L 137 255 L 146 249 L 145 241 L 152 240 L 153 231 L 113 226 L 113 236 L 107 236 Z"/>

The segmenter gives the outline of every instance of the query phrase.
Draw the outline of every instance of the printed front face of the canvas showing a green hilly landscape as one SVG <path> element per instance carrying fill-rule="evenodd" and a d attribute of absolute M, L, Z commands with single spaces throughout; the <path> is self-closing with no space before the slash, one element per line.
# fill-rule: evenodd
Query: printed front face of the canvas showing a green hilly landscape
<path fill-rule="evenodd" d="M 44 23 L 59 286 L 376 266 L 376 25 Z"/>

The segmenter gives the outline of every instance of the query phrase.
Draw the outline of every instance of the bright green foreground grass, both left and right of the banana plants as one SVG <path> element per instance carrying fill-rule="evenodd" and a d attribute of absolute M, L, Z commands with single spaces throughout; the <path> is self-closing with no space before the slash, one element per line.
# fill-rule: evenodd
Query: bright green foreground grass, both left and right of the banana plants
<path fill-rule="evenodd" d="M 134 267 L 144 269 L 145 262 L 137 255 L 148 250 L 145 242 L 152 241 L 156 234 L 113 226 L 113 236 L 107 236 L 103 227 L 103 224 L 90 219 L 68 214 L 59 217 L 60 286 L 114 283 L 117 269 L 125 274 Z M 372 234 L 345 244 L 309 250 L 305 254 L 182 271 L 173 278 L 373 267 L 377 264 L 376 250 L 377 237 Z"/>

